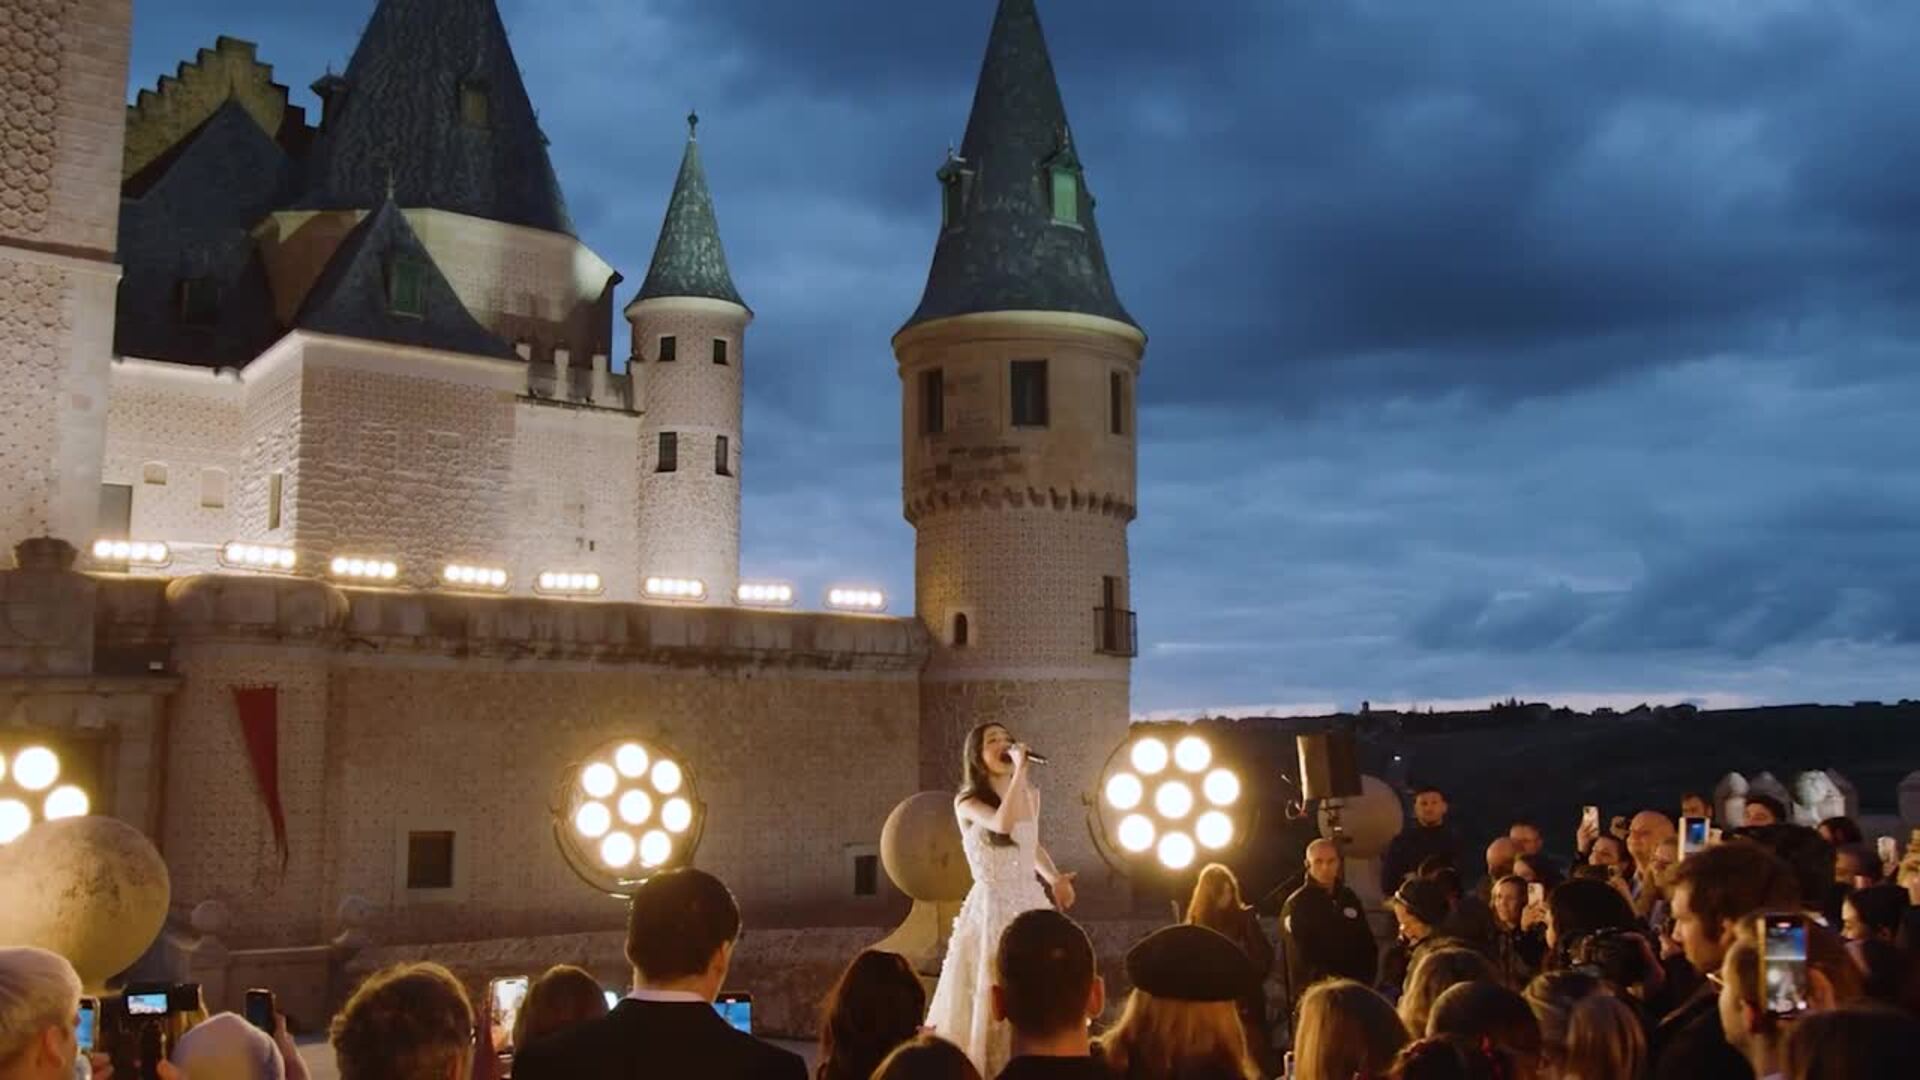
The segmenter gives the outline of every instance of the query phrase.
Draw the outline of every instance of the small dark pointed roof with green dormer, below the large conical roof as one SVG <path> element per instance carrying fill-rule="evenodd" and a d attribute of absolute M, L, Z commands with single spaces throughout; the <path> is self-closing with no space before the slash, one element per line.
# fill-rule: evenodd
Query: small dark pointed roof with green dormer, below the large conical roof
<path fill-rule="evenodd" d="M 419 315 L 394 311 L 390 279 L 396 273 L 415 277 Z M 513 346 L 461 304 L 392 196 L 348 233 L 294 325 L 321 334 L 518 359 Z"/>

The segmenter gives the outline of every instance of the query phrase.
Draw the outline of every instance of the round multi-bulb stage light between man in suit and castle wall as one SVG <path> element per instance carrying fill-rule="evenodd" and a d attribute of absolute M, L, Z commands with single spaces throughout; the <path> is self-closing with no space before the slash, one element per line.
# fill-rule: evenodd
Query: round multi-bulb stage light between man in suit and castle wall
<path fill-rule="evenodd" d="M 570 765 L 555 788 L 553 838 L 566 867 L 599 892 L 632 896 L 659 871 L 685 867 L 705 807 L 693 773 L 645 738 L 614 738 Z"/>

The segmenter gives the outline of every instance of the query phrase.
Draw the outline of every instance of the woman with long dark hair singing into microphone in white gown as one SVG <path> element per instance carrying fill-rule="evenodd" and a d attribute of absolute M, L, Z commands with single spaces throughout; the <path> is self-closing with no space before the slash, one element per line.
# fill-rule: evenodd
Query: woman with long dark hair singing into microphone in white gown
<path fill-rule="evenodd" d="M 989 1007 L 993 949 L 1016 915 L 1046 907 L 1035 874 L 1052 886 L 1062 911 L 1073 905 L 1073 874 L 1062 874 L 1041 847 L 1041 792 L 1027 778 L 1027 748 L 1000 724 L 968 732 L 954 817 L 973 888 L 954 919 L 927 1026 L 964 1049 L 981 1076 L 998 1076 L 1010 1032 Z"/>

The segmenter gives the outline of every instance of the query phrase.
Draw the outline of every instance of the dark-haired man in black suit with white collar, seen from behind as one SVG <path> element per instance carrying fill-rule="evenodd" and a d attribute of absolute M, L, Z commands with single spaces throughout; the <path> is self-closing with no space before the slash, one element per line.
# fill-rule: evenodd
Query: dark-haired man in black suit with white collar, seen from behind
<path fill-rule="evenodd" d="M 737 938 L 739 907 L 720 878 L 691 869 L 649 878 L 626 920 L 634 992 L 597 1020 L 528 1043 L 515 1080 L 806 1080 L 797 1055 L 714 1011 Z"/>

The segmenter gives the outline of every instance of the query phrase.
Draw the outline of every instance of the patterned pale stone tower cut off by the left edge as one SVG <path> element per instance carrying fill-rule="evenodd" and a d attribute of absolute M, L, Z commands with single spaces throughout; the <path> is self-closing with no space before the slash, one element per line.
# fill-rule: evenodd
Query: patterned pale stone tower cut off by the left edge
<path fill-rule="evenodd" d="M 94 540 L 131 19 L 129 0 L 0 17 L 0 565 L 31 536 Z"/>

